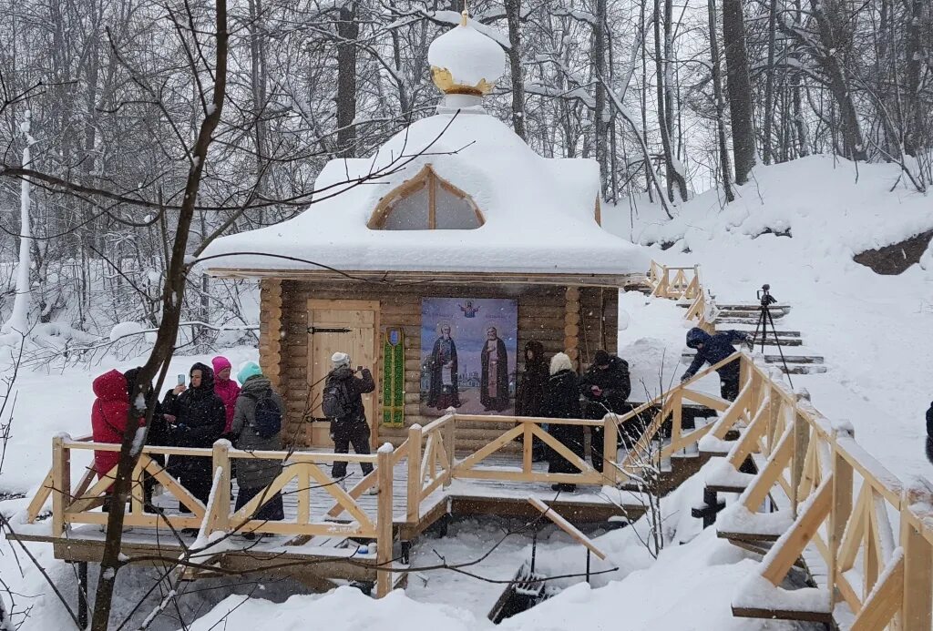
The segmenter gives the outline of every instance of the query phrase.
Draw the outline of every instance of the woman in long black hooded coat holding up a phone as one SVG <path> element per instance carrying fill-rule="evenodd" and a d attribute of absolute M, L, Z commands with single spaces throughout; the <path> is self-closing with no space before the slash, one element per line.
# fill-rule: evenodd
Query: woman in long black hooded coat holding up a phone
<path fill-rule="evenodd" d="M 172 442 L 179 447 L 209 449 L 224 432 L 227 410 L 224 402 L 214 393 L 214 371 L 198 363 L 188 373 L 190 388 L 175 386 L 162 401 L 162 411 L 174 417 Z M 194 497 L 205 504 L 214 483 L 210 455 L 171 456 L 168 472 L 182 483 Z M 182 506 L 182 513 L 188 509 Z"/>

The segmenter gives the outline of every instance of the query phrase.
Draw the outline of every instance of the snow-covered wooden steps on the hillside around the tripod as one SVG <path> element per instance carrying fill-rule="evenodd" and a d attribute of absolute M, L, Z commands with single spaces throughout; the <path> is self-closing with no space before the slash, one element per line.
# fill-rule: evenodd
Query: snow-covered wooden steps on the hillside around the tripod
<path fill-rule="evenodd" d="M 681 304 L 681 307 L 689 305 Z M 717 305 L 717 317 L 715 321 L 717 330 L 724 331 L 734 329 L 742 331 L 749 335 L 756 333 L 756 327 L 759 323 L 760 306 L 758 304 L 728 304 Z M 803 342 L 800 331 L 791 331 L 781 327 L 781 321 L 790 312 L 789 305 L 772 305 L 771 316 L 776 329 L 776 339 L 769 323 L 767 335 L 763 335 L 759 330 L 755 336 L 754 352 L 760 353 L 765 364 L 773 364 L 781 369 L 782 372 L 789 375 L 814 375 L 825 373 L 827 367 L 824 364 L 824 358 L 820 355 L 808 351 Z M 762 351 L 762 343 L 764 350 Z M 781 348 L 778 349 L 778 343 Z M 781 353 L 783 351 L 784 359 L 782 361 Z M 681 362 L 689 364 L 693 361 L 695 350 L 685 349 L 681 356 Z M 784 364 L 787 364 L 787 368 Z"/>

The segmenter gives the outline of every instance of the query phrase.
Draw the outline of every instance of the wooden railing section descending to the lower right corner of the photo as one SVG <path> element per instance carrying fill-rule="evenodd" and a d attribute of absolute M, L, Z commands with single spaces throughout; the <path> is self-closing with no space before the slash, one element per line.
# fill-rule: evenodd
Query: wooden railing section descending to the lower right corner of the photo
<path fill-rule="evenodd" d="M 808 600 L 814 609 L 837 616 L 841 606 L 850 610 L 853 629 L 931 628 L 933 485 L 917 480 L 905 488 L 856 443 L 851 427 L 830 423 L 805 395 L 789 391 L 746 355 L 743 381 L 748 425 L 726 456 L 727 473 L 737 473 L 751 456 L 760 467 L 719 529 L 727 537 L 781 536 L 734 610 L 767 614 L 754 605 L 767 591 L 778 610 L 781 603 L 787 610 L 799 607 L 804 594 L 789 595 L 780 585 L 810 549 L 826 572 L 825 584 Z M 759 513 L 776 497 L 784 508 Z"/>

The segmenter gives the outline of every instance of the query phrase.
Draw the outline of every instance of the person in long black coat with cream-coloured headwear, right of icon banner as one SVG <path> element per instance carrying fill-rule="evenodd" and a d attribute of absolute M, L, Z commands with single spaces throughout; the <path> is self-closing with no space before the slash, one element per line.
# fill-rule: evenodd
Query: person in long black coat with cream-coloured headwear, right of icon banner
<path fill-rule="evenodd" d="M 547 418 L 580 418 L 578 377 L 566 353 L 559 352 L 550 358 L 550 378 L 541 412 Z M 580 458 L 584 458 L 581 425 L 551 424 L 548 433 Z M 556 450 L 549 449 L 548 473 L 578 473 L 578 469 Z M 551 488 L 555 491 L 573 491 L 577 485 L 555 484 Z"/>

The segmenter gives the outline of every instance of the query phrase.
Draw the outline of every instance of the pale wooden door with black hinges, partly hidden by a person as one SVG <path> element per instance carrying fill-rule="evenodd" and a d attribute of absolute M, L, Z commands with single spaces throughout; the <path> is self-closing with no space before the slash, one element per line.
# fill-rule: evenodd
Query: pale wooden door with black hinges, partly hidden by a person
<path fill-rule="evenodd" d="M 376 445 L 379 424 L 376 415 L 379 370 L 379 302 L 375 300 L 308 301 L 308 385 L 311 389 L 312 446 L 333 446 L 330 423 L 321 411 L 324 382 L 330 371 L 330 356 L 349 353 L 352 367 L 366 366 L 376 379 L 377 390 L 363 395 L 371 443 Z"/>

